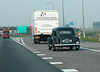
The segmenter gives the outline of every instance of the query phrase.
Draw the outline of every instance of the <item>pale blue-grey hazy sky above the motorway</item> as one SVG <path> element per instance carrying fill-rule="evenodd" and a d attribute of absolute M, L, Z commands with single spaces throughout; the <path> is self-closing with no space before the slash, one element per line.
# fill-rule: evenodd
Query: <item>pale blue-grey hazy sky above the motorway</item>
<path fill-rule="evenodd" d="M 100 21 L 100 0 L 83 0 L 85 27 Z M 0 0 L 0 26 L 31 25 L 34 10 L 59 10 L 59 25 L 62 26 L 62 0 Z M 64 0 L 65 24 L 71 21 L 82 27 L 82 0 Z"/>

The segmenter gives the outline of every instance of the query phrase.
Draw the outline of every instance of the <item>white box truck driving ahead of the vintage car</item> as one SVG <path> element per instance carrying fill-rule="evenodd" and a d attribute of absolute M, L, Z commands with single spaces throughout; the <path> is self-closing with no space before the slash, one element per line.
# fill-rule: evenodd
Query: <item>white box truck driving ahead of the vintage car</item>
<path fill-rule="evenodd" d="M 58 27 L 58 10 L 35 10 L 33 23 L 34 43 L 47 41 L 52 29 Z"/>

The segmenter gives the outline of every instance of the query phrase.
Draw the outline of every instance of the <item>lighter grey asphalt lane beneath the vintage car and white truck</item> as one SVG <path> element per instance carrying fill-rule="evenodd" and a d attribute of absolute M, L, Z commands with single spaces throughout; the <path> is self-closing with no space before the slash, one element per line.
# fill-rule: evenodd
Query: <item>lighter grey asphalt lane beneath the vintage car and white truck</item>
<path fill-rule="evenodd" d="M 100 72 L 100 52 L 94 52 L 87 49 L 80 49 L 79 51 L 61 49 L 53 52 L 52 50 L 48 50 L 48 46 L 45 43 L 34 44 L 32 38 L 29 37 L 25 37 L 23 40 L 30 47 L 36 48 L 41 51 L 42 54 L 46 54 L 47 57 L 53 58 L 47 60 L 48 62 L 63 62 L 62 65 L 55 65 L 59 69 L 77 69 L 79 72 Z M 82 44 L 81 42 L 81 45 L 84 46 L 84 43 Z M 90 44 L 87 44 L 87 47 L 89 47 L 89 45 Z M 94 47 L 94 49 L 98 50 L 98 46 L 97 48 Z"/>

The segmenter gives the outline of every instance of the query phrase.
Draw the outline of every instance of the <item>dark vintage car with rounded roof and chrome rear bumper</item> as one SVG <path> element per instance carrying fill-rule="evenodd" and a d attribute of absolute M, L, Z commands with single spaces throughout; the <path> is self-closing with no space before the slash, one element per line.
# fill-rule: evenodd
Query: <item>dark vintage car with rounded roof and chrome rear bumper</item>
<path fill-rule="evenodd" d="M 48 38 L 49 50 L 56 51 L 59 48 L 69 47 L 76 50 L 80 48 L 80 40 L 75 36 L 75 30 L 71 27 L 57 27 L 52 30 L 51 37 Z"/>

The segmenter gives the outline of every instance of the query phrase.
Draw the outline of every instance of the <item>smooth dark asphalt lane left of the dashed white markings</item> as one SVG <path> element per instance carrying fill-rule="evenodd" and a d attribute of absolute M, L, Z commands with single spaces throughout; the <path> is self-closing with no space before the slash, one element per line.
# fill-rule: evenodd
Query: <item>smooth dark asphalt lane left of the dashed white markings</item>
<path fill-rule="evenodd" d="M 62 72 L 12 39 L 0 37 L 0 72 Z"/>

